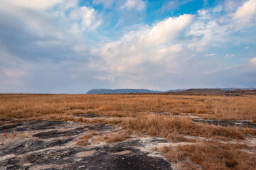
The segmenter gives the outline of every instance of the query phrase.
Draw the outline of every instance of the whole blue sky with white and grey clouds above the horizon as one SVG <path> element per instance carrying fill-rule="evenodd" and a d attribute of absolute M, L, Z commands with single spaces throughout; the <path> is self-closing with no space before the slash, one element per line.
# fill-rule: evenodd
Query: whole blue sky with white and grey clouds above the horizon
<path fill-rule="evenodd" d="M 256 87 L 256 0 L 0 4 L 0 93 Z"/>

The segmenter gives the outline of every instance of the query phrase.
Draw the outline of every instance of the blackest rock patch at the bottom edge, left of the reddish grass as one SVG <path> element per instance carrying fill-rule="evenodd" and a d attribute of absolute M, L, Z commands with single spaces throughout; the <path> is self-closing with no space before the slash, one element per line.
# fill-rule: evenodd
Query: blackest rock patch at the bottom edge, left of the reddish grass
<path fill-rule="evenodd" d="M 139 145 L 137 143 L 137 145 Z M 95 151 L 89 157 L 82 157 L 75 160 L 72 169 L 171 169 L 171 164 L 164 159 L 148 157 L 145 152 L 130 147 L 127 142 L 123 145 L 93 148 Z M 129 154 L 116 154 L 122 151 L 130 151 Z"/>

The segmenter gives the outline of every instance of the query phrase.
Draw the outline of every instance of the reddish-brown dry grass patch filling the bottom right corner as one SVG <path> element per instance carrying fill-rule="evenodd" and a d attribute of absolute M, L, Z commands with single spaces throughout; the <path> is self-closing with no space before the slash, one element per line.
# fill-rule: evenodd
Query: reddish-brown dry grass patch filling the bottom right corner
<path fill-rule="evenodd" d="M 255 169 L 256 154 L 248 153 L 246 149 L 250 147 L 199 142 L 176 148 L 164 147 L 162 152 L 169 161 L 179 164 L 180 169 L 197 169 L 197 165 L 203 169 Z"/>

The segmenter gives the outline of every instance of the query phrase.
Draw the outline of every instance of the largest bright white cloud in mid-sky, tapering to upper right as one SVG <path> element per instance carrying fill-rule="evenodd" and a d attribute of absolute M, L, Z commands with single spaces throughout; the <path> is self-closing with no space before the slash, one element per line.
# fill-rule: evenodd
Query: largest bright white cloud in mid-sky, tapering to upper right
<path fill-rule="evenodd" d="M 107 72 L 119 82 L 122 77 L 148 81 L 154 79 L 157 72 L 178 73 L 178 60 L 187 56 L 184 45 L 177 43 L 178 37 L 183 37 L 183 30 L 192 21 L 192 15 L 170 17 L 152 27 L 143 26 L 142 30 L 131 31 L 120 40 L 95 50 L 93 54 L 100 55 L 101 60 L 93 67 Z M 151 77 L 145 77 L 150 73 Z M 95 77 L 102 79 L 101 74 Z"/>

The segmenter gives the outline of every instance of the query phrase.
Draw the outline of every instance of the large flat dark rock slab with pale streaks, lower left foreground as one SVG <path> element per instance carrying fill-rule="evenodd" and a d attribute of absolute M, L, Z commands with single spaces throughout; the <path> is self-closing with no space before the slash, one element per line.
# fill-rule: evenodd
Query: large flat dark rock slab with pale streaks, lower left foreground
<path fill-rule="evenodd" d="M 149 157 L 135 139 L 112 145 L 80 147 L 87 132 L 111 132 L 116 127 L 63 121 L 32 121 L 0 125 L 0 169 L 171 169 L 161 157 Z M 151 137 L 156 145 L 166 140 Z"/>

